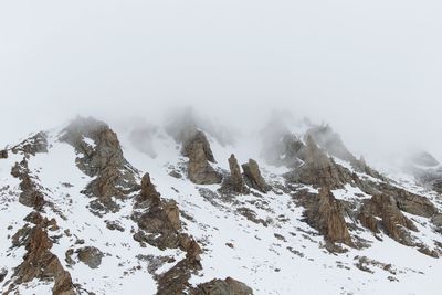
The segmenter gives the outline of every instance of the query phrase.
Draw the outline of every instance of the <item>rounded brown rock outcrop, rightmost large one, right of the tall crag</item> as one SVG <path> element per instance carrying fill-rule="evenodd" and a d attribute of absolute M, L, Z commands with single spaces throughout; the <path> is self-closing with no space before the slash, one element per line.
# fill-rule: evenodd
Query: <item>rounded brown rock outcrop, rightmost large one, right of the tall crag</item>
<path fill-rule="evenodd" d="M 380 218 L 380 221 L 377 218 Z M 359 220 L 372 232 L 380 232 L 380 229 L 382 229 L 396 241 L 404 245 L 413 245 L 406 229 L 418 230 L 413 222 L 402 214 L 391 196 L 381 193 L 366 201 L 361 207 Z"/>

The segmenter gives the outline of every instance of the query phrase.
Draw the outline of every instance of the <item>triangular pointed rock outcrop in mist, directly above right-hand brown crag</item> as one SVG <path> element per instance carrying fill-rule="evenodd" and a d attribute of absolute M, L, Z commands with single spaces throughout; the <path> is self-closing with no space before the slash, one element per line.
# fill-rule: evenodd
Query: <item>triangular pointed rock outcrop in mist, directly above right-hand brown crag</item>
<path fill-rule="evenodd" d="M 352 181 L 351 172 L 328 158 L 311 136 L 307 136 L 306 146 L 299 151 L 299 157 L 304 165 L 285 175 L 290 182 L 338 189 Z"/>

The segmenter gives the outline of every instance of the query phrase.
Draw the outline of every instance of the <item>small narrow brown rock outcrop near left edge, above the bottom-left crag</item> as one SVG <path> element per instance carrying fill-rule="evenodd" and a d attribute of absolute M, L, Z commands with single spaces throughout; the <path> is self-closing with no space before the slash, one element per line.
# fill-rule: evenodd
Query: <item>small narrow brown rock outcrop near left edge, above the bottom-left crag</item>
<path fill-rule="evenodd" d="M 19 202 L 35 210 L 41 210 L 45 204 L 44 196 L 40 191 L 40 186 L 30 176 L 28 160 L 23 158 L 20 164 L 17 162 L 11 169 L 11 175 L 21 180 Z"/>

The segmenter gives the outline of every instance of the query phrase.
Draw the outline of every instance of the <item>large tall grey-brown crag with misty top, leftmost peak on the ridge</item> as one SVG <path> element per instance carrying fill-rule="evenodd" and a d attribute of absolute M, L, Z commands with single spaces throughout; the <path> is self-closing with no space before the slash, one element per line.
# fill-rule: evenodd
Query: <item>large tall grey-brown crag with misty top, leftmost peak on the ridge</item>
<path fill-rule="evenodd" d="M 95 146 L 85 138 L 92 139 Z M 125 198 L 139 187 L 135 169 L 124 158 L 117 135 L 102 122 L 77 118 L 64 129 L 60 140 L 72 145 L 83 157 L 77 157 L 77 167 L 87 176 L 95 177 L 84 193 L 97 197 L 93 207 L 97 211 L 117 211 L 112 198 Z"/>

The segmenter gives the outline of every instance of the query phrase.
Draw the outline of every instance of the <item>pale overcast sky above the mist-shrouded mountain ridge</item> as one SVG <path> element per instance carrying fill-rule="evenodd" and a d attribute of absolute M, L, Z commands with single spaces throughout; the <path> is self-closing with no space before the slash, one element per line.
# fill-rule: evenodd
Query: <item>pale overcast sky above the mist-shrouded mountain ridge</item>
<path fill-rule="evenodd" d="M 0 0 L 0 146 L 76 114 L 196 105 L 442 157 L 441 15 L 436 0 Z"/>

